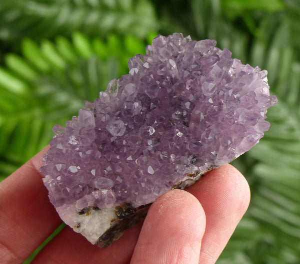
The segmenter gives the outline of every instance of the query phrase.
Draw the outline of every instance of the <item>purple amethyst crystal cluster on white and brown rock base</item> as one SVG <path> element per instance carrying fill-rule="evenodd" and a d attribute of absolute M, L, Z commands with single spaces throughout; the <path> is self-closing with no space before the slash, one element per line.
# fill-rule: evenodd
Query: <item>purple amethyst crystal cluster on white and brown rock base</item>
<path fill-rule="evenodd" d="M 129 74 L 78 117 L 55 125 L 41 172 L 61 219 L 109 246 L 172 188 L 185 188 L 253 147 L 268 130 L 265 70 L 215 40 L 157 36 Z"/>

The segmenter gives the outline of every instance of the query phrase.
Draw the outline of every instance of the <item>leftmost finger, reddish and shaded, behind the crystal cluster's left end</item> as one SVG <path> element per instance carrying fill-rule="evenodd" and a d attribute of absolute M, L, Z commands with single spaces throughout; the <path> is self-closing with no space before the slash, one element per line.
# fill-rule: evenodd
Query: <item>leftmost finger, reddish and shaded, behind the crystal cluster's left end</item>
<path fill-rule="evenodd" d="M 39 167 L 46 150 L 0 183 L 0 260 L 3 263 L 22 263 L 61 223 L 35 167 Z"/>

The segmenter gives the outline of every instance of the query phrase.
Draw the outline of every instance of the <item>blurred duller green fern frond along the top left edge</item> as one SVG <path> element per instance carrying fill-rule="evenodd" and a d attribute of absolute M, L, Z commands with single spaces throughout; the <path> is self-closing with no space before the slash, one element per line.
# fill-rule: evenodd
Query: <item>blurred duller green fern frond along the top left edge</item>
<path fill-rule="evenodd" d="M 1 0 L 0 39 L 17 44 L 82 31 L 89 36 L 114 32 L 146 37 L 157 31 L 155 10 L 149 0 Z"/>

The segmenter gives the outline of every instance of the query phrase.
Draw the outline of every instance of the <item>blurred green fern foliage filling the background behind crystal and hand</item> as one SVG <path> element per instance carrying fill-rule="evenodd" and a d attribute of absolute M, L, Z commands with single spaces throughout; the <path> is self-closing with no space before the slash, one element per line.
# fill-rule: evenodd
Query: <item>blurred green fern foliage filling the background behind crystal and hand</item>
<path fill-rule="evenodd" d="M 267 69 L 279 101 L 265 137 L 233 162 L 252 200 L 217 263 L 299 264 L 299 0 L 1 0 L 0 180 L 126 74 L 153 36 L 172 32 L 216 39 Z"/>

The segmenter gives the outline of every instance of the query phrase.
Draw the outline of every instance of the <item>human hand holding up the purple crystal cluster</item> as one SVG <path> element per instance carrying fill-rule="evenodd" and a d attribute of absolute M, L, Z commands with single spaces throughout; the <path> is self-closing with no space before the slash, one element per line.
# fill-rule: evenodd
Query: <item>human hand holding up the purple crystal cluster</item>
<path fill-rule="evenodd" d="M 60 224 L 39 167 L 47 148 L 0 183 L 0 263 L 21 264 Z M 143 224 L 109 248 L 65 227 L 32 264 L 213 264 L 249 204 L 249 187 L 224 165 L 182 190 L 159 197 Z"/>

